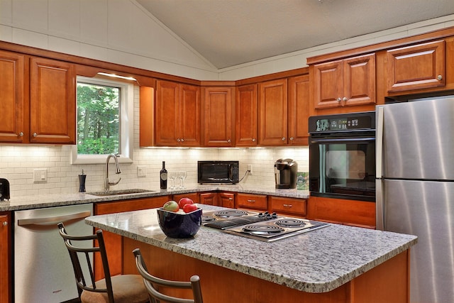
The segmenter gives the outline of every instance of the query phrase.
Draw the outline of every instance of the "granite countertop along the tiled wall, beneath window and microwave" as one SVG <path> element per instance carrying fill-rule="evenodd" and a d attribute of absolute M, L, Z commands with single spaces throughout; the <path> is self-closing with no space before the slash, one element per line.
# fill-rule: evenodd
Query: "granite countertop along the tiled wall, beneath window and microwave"
<path fill-rule="evenodd" d="M 115 191 L 116 189 L 112 189 Z M 297 189 L 275 189 L 273 187 L 256 187 L 251 185 L 240 184 L 215 184 L 215 185 L 200 185 L 192 184 L 187 185 L 186 189 L 147 189 L 150 192 L 141 192 L 138 194 L 121 194 L 112 196 L 95 196 L 86 193 L 74 194 L 42 194 L 33 196 L 16 196 L 12 195 L 11 199 L 0 201 L 0 211 L 16 211 L 23 209 L 39 209 L 43 207 L 53 206 L 66 206 L 73 204 L 96 203 L 96 202 L 109 202 L 123 199 L 136 199 L 146 197 L 159 197 L 168 194 L 185 194 L 192 192 L 242 192 L 246 194 L 265 194 L 278 197 L 292 197 L 299 199 L 308 199 L 309 191 Z"/>

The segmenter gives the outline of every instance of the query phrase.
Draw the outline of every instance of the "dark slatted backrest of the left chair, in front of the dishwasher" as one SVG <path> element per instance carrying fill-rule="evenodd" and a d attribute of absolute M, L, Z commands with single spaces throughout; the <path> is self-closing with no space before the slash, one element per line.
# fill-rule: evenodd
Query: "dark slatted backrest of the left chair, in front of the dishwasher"
<path fill-rule="evenodd" d="M 105 292 L 109 298 L 109 303 L 114 303 L 114 292 L 112 291 L 111 275 L 102 231 L 98 230 L 96 234 L 88 236 L 71 236 L 66 232 L 65 226 L 62 223 L 58 224 L 58 229 L 70 253 L 79 299 L 84 290 L 88 292 Z M 95 246 L 95 240 L 98 241 L 98 246 Z M 87 242 L 89 243 L 89 247 L 87 247 Z M 105 287 L 96 287 L 92 266 L 92 255 L 94 253 L 101 255 L 104 279 L 106 281 Z"/>

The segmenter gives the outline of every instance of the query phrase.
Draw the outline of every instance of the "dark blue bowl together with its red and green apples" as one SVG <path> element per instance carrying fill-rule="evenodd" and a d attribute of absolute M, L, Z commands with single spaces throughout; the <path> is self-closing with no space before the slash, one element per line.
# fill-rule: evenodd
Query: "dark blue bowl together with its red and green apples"
<path fill-rule="evenodd" d="M 201 209 L 189 198 L 170 200 L 157 209 L 157 220 L 165 236 L 190 238 L 201 226 Z"/>

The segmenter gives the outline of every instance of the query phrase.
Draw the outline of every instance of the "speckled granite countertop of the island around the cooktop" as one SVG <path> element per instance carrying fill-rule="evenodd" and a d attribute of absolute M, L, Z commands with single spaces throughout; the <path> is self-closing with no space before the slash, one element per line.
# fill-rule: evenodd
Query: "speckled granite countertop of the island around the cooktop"
<path fill-rule="evenodd" d="M 86 223 L 304 292 L 334 290 L 417 241 L 416 236 L 338 224 L 272 243 L 205 227 L 194 238 L 175 239 L 160 230 L 156 209 L 90 216 Z"/>

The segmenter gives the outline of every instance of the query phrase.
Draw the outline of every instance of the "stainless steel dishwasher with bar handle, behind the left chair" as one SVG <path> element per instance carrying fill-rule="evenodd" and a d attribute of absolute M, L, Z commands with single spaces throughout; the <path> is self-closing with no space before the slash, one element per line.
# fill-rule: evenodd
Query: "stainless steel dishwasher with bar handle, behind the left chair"
<path fill-rule="evenodd" d="M 70 255 L 58 233 L 86 235 L 93 204 L 14 211 L 14 302 L 65 302 L 77 298 Z"/>

